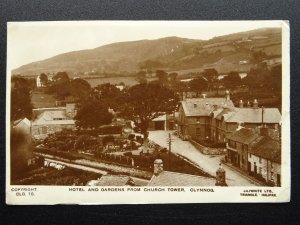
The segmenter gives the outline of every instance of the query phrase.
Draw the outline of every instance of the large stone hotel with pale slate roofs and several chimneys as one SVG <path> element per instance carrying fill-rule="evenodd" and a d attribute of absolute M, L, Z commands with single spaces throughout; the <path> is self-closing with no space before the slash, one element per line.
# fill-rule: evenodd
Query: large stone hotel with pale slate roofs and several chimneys
<path fill-rule="evenodd" d="M 190 98 L 181 102 L 178 118 L 178 133 L 185 139 L 210 140 L 225 143 L 226 136 L 234 132 L 239 125 L 255 128 L 262 123 L 276 129 L 281 121 L 277 108 L 259 108 L 255 99 L 253 107 L 244 107 L 240 101 L 235 107 L 229 92 L 225 98 Z"/>

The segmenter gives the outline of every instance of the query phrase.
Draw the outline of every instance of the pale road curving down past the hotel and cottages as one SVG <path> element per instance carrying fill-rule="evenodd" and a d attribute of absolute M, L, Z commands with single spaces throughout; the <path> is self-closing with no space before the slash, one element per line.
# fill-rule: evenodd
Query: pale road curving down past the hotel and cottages
<path fill-rule="evenodd" d="M 160 146 L 167 148 L 168 135 L 169 132 L 167 131 L 150 131 L 149 140 L 152 140 Z M 224 156 L 204 155 L 190 142 L 182 141 L 175 135 L 172 135 L 172 139 L 172 152 L 188 158 L 190 161 L 201 167 L 203 171 L 215 176 L 216 171 L 219 168 L 220 160 Z M 223 165 L 223 169 L 226 171 L 226 182 L 229 186 L 257 186 L 257 183 L 253 182 L 234 169 L 226 165 Z"/>

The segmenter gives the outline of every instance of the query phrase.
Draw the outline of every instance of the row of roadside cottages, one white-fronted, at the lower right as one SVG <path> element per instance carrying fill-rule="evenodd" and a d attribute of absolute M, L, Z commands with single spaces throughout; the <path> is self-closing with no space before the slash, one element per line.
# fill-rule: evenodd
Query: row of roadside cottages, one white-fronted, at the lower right
<path fill-rule="evenodd" d="M 280 186 L 281 145 L 277 129 L 240 128 L 227 136 L 226 161 L 254 177 Z"/>

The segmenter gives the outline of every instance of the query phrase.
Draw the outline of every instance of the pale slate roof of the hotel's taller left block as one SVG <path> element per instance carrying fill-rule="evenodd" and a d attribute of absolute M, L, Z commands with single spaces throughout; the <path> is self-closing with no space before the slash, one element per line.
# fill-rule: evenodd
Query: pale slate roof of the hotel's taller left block
<path fill-rule="evenodd" d="M 220 107 L 234 107 L 226 98 L 187 98 L 181 103 L 186 116 L 209 116 Z"/>

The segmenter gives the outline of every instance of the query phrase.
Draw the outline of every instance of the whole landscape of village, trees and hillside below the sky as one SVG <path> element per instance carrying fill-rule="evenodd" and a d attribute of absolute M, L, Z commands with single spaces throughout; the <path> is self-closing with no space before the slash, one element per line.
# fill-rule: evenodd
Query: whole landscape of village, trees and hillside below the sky
<path fill-rule="evenodd" d="M 280 32 L 113 43 L 13 70 L 11 183 L 280 187 Z"/>

